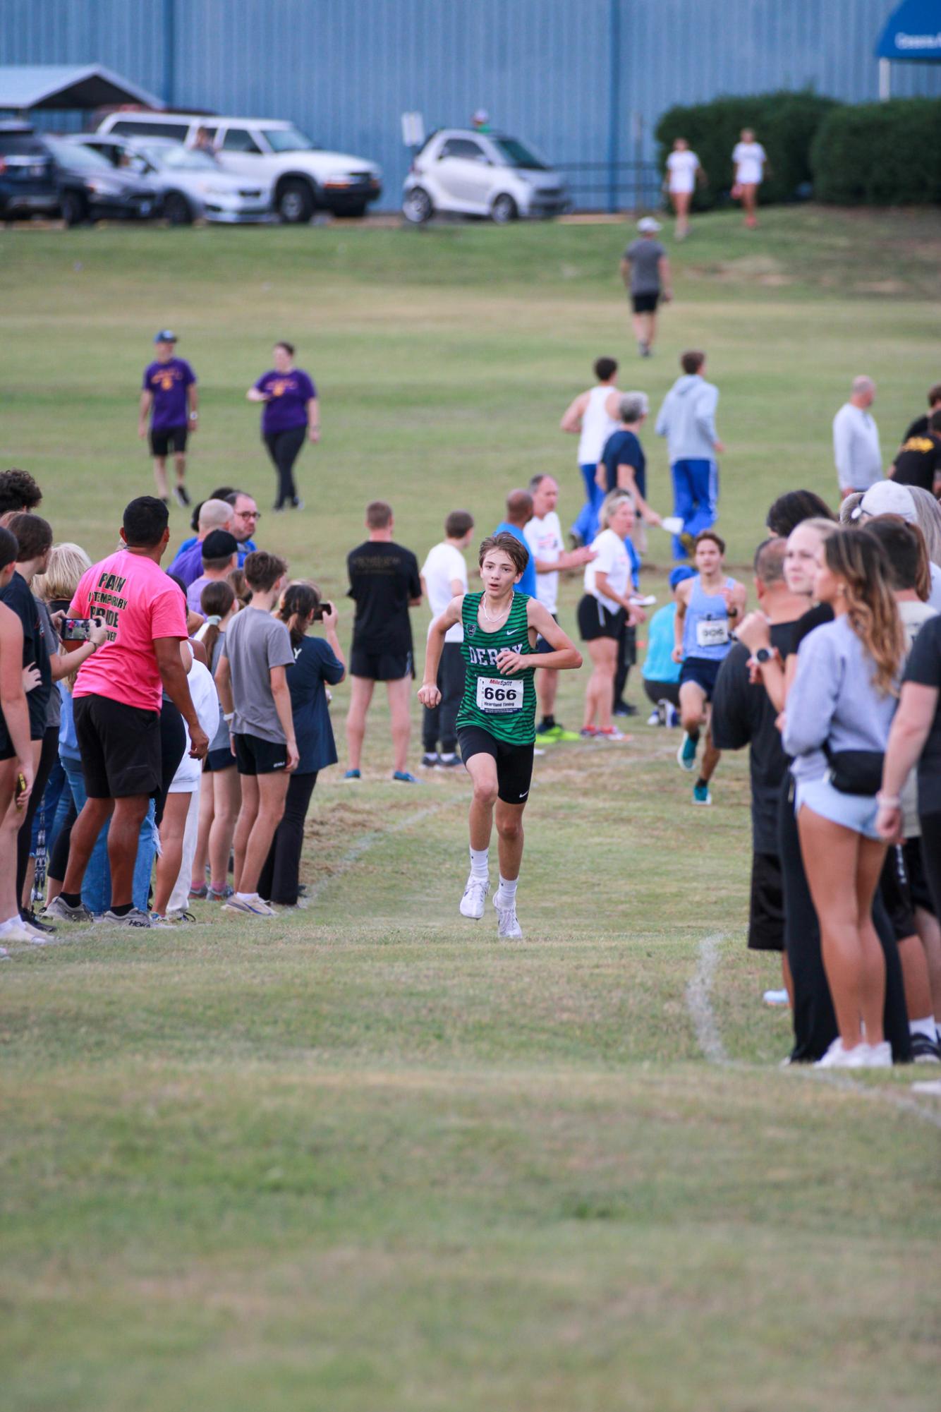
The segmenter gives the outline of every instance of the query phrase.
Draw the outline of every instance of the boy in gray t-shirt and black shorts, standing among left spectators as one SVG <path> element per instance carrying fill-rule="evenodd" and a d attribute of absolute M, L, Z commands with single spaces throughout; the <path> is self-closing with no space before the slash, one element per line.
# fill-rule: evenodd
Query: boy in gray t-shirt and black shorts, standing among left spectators
<path fill-rule="evenodd" d="M 241 778 L 236 825 L 236 891 L 223 905 L 251 916 L 274 916 L 258 897 L 258 878 L 281 823 L 288 775 L 298 768 L 298 746 L 285 668 L 293 662 L 291 635 L 271 616 L 288 575 L 274 554 L 255 549 L 244 563 L 251 603 L 229 624 L 216 686 L 231 731 Z"/>

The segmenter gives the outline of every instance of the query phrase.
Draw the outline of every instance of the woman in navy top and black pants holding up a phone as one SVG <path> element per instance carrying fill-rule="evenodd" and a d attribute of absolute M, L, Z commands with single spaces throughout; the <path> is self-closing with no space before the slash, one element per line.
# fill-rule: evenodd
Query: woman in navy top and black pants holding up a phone
<path fill-rule="evenodd" d="M 291 583 L 281 597 L 278 617 L 286 623 L 293 648 L 293 665 L 285 676 L 300 758 L 288 784 L 284 816 L 261 870 L 258 892 L 267 902 L 296 907 L 308 805 L 319 771 L 337 762 L 326 686 L 343 681 L 346 659 L 337 638 L 337 610 L 332 603 L 320 603 L 320 592 L 312 583 Z M 323 621 L 326 641 L 306 635 L 316 620 Z"/>

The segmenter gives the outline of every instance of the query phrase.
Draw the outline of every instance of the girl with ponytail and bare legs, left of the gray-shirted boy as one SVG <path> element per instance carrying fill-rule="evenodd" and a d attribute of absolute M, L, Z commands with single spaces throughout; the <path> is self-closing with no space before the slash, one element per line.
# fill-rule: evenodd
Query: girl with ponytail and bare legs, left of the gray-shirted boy
<path fill-rule="evenodd" d="M 199 606 L 206 621 L 196 634 L 196 641 L 206 650 L 206 665 L 216 676 L 226 628 L 238 611 L 236 592 L 227 579 L 207 583 L 199 596 Z M 241 784 L 231 753 L 229 722 L 219 706 L 219 729 L 209 744 L 203 761 L 203 778 L 199 789 L 199 837 L 193 856 L 189 895 L 209 898 L 210 902 L 224 902 L 231 897 L 229 882 L 229 856 L 236 833 L 236 820 L 241 808 Z M 209 858 L 209 884 L 206 884 L 206 858 Z"/>

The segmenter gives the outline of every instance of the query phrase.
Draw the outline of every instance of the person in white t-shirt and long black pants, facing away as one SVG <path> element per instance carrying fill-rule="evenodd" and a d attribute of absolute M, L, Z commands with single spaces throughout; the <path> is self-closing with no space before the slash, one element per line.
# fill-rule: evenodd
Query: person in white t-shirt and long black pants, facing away
<path fill-rule="evenodd" d="M 432 621 L 444 611 L 451 599 L 467 593 L 467 565 L 464 549 L 474 534 L 474 517 L 467 510 L 451 510 L 444 521 L 444 539 L 427 551 L 420 569 L 422 594 L 432 610 Z M 464 695 L 464 658 L 461 642 L 464 628 L 460 623 L 444 635 L 442 661 L 437 668 L 437 689 L 442 699 L 437 706 L 426 706 L 422 719 L 422 764 L 453 768 L 461 764 L 457 754 L 457 709 Z M 440 744 L 440 753 L 439 753 Z"/>

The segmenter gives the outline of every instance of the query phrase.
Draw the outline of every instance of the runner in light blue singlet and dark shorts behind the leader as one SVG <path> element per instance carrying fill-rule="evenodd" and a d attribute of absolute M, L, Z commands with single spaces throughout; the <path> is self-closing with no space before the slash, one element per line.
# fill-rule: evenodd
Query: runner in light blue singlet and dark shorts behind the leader
<path fill-rule="evenodd" d="M 741 623 L 748 597 L 743 583 L 725 573 L 725 541 L 703 530 L 693 542 L 696 578 L 676 589 L 673 661 L 680 669 L 680 722 L 683 740 L 676 758 L 680 770 L 696 770 L 700 731 L 705 727 L 703 764 L 693 786 L 693 803 L 712 803 L 710 779 L 721 760 L 710 731 L 710 702 L 720 666 L 732 648 L 732 630 Z"/>

